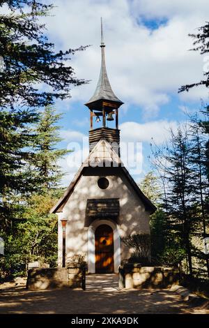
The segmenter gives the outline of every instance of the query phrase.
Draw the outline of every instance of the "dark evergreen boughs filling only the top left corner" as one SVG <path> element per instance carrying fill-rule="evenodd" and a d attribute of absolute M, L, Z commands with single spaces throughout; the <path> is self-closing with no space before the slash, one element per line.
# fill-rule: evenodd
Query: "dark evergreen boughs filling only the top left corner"
<path fill-rule="evenodd" d="M 0 15 L 0 54 L 5 69 L 0 79 L 0 107 L 43 107 L 55 98 L 69 98 L 70 87 L 84 83 L 67 63 L 78 50 L 54 52 L 54 44 L 44 35 L 41 16 L 52 5 L 38 1 L 1 1 L 8 13 Z M 10 9 L 9 9 L 10 8 Z M 64 64 L 65 62 L 65 64 Z M 43 91 L 40 84 L 48 86 Z"/>

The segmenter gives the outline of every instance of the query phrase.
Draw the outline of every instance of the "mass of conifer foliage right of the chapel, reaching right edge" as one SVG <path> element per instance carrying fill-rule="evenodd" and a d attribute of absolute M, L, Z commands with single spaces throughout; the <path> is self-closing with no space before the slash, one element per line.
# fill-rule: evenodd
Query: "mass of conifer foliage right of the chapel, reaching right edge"
<path fill-rule="evenodd" d="M 157 262 L 169 264 L 175 262 L 175 253 L 180 258 L 185 252 L 191 276 L 201 273 L 204 259 L 208 268 L 201 247 L 209 228 L 205 141 L 199 118 L 192 117 L 188 126 L 171 131 L 167 143 L 153 151 L 153 165 L 162 179 L 164 195 L 150 219 L 152 255 Z M 167 261 L 167 256 L 173 260 Z"/>

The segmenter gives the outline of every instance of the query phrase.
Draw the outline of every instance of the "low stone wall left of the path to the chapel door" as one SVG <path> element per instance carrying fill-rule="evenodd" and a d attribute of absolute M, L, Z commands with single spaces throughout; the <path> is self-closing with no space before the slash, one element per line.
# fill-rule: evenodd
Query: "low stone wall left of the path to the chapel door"
<path fill-rule="evenodd" d="M 72 265 L 69 268 L 36 268 L 28 271 L 28 290 L 63 287 L 85 289 L 85 270 L 78 265 Z"/>

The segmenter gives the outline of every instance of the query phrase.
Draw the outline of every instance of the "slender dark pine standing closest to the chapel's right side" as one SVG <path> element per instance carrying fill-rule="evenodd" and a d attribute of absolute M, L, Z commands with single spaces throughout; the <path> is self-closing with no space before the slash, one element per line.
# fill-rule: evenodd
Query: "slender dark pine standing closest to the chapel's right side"
<path fill-rule="evenodd" d="M 168 228 L 173 239 L 178 242 L 179 248 L 185 249 L 189 274 L 192 276 L 191 232 L 195 216 L 192 195 L 193 173 L 189 166 L 190 149 L 187 128 L 178 128 L 176 135 L 171 131 L 167 145 L 153 151 L 153 155 L 154 165 L 166 181 L 164 209 L 167 213 Z"/>

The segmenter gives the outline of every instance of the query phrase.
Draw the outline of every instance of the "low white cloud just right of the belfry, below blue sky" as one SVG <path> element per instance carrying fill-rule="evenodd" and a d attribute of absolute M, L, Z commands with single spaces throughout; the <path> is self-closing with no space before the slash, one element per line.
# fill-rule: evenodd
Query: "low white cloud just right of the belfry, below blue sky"
<path fill-rule="evenodd" d="M 161 144 L 169 137 L 170 128 L 176 131 L 176 121 L 150 121 L 144 124 L 125 122 L 121 124 L 121 142 L 155 142 Z"/>

